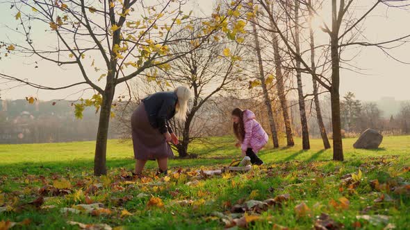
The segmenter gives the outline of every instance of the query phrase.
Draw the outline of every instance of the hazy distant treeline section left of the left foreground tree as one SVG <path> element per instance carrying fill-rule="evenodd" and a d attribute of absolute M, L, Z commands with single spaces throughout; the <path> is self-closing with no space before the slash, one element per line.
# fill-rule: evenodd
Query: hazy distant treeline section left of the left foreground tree
<path fill-rule="evenodd" d="M 93 141 L 98 114 L 85 109 L 82 119 L 74 117 L 72 102 L 0 100 L 0 143 L 49 143 Z M 117 136 L 110 132 L 110 138 Z"/>

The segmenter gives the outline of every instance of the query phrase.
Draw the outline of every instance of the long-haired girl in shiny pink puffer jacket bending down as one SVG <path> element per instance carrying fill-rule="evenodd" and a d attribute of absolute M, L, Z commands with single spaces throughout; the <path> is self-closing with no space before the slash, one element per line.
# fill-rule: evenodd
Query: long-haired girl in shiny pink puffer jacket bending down
<path fill-rule="evenodd" d="M 239 108 L 232 111 L 233 133 L 238 139 L 236 147 L 242 145 L 242 156 L 248 156 L 252 164 L 260 166 L 263 161 L 256 153 L 268 143 L 268 134 L 261 124 L 255 120 L 255 114 L 250 110 Z"/>

